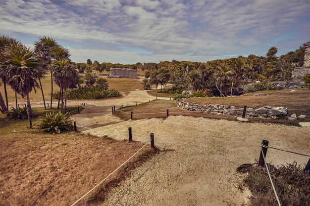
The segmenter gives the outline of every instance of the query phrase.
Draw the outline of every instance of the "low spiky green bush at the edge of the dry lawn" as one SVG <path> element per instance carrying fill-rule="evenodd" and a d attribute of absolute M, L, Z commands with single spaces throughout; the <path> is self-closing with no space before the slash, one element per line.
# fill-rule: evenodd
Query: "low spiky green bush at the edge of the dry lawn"
<path fill-rule="evenodd" d="M 63 131 L 70 131 L 72 129 L 72 121 L 68 113 L 61 113 L 60 111 L 54 115 L 47 112 L 45 117 L 36 123 L 40 132 L 60 133 Z"/>

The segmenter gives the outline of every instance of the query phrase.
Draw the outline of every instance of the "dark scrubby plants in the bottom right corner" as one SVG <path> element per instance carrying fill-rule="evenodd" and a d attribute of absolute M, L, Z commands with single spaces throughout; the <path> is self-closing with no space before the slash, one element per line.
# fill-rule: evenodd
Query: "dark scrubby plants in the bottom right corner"
<path fill-rule="evenodd" d="M 283 206 L 310 205 L 310 173 L 304 172 L 297 163 L 278 167 L 268 164 L 268 168 Z M 249 206 L 278 206 L 265 167 L 250 167 L 243 187 L 252 192 Z"/>

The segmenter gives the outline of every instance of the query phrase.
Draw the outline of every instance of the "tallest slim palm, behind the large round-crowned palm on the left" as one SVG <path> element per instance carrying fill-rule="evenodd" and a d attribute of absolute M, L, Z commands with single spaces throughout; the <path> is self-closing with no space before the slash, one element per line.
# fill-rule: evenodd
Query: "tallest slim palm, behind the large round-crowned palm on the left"
<path fill-rule="evenodd" d="M 35 42 L 35 52 L 40 56 L 40 58 L 43 62 L 43 65 L 44 65 L 44 69 L 50 70 L 50 72 L 51 72 L 51 85 L 52 85 L 51 108 L 52 108 L 52 98 L 53 98 L 53 77 L 52 77 L 51 63 L 52 63 L 52 59 L 53 59 L 52 48 L 55 46 L 59 46 L 59 45 L 54 39 L 52 39 L 50 37 L 45 37 L 45 36 L 40 37 L 39 41 Z M 42 83 L 41 83 L 41 81 L 39 81 L 39 83 L 40 83 L 40 87 L 41 87 L 41 91 L 42 91 L 44 107 L 46 108 L 44 93 L 43 93 L 43 89 L 42 89 Z"/>

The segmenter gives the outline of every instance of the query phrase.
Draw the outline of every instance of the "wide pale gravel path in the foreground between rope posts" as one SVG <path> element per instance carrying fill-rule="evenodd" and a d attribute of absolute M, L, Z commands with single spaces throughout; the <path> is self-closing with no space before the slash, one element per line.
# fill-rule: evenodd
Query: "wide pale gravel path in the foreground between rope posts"
<path fill-rule="evenodd" d="M 249 192 L 237 189 L 244 175 L 235 169 L 259 157 L 262 139 L 269 140 L 270 146 L 310 153 L 310 128 L 276 124 L 170 116 L 166 120 L 126 121 L 85 132 L 121 140 L 127 139 L 127 134 L 111 131 L 127 131 L 128 126 L 133 133 L 147 135 L 138 139 L 140 136 L 133 134 L 134 140 L 148 141 L 153 132 L 155 145 L 162 151 L 112 189 L 104 206 L 240 206 Z M 308 158 L 269 149 L 267 161 L 298 161 L 303 165 Z"/>

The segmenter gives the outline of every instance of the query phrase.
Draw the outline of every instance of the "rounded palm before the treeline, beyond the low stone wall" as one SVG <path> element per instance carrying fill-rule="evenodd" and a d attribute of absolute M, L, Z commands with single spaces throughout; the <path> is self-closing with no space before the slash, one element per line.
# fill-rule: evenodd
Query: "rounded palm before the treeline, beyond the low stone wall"
<path fill-rule="evenodd" d="M 222 86 L 223 84 L 229 80 L 232 72 L 230 71 L 230 67 L 227 63 L 220 63 L 214 72 L 215 75 L 215 86 L 217 90 L 220 92 L 220 97 L 224 96 L 222 94 Z"/>

